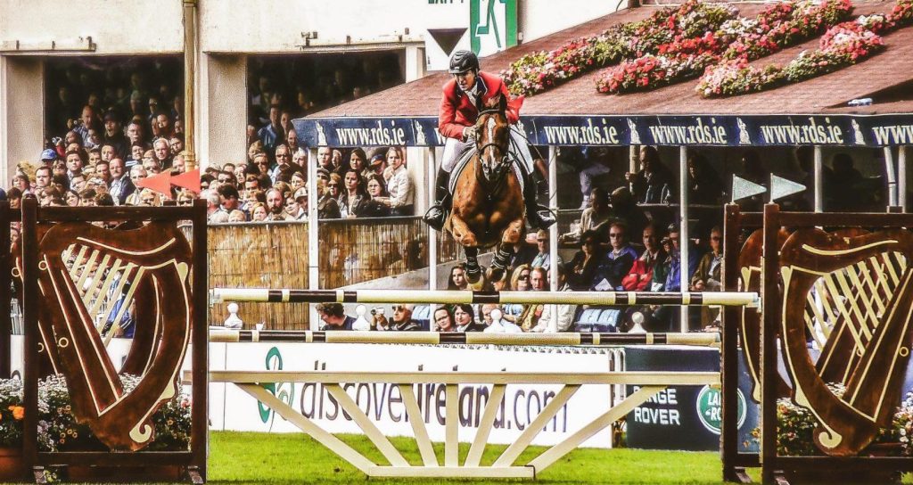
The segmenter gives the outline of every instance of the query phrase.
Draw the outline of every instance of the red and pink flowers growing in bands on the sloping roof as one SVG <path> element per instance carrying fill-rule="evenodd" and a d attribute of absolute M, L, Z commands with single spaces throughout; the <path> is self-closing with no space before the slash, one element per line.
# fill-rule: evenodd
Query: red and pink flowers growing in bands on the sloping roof
<path fill-rule="evenodd" d="M 703 96 L 766 90 L 859 62 L 884 47 L 880 34 L 913 25 L 913 0 L 897 0 L 887 16 L 845 22 L 852 10 L 850 0 L 790 0 L 745 18 L 728 5 L 688 0 L 599 36 L 519 58 L 501 75 L 516 95 L 548 90 L 602 68 L 595 84 L 606 94 L 652 90 L 698 76 Z M 821 47 L 786 66 L 749 65 L 822 33 Z"/>

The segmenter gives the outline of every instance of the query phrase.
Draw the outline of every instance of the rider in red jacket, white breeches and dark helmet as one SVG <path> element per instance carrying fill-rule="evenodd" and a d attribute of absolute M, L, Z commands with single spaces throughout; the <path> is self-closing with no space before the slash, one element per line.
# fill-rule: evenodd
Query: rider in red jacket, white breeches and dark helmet
<path fill-rule="evenodd" d="M 511 100 L 504 82 L 493 74 L 478 70 L 478 58 L 472 51 L 457 50 L 450 58 L 450 74 L 454 79 L 444 85 L 444 99 L 438 116 L 437 129 L 446 137 L 444 159 L 437 170 L 437 186 L 434 206 L 425 213 L 428 226 L 441 230 L 450 210 L 450 189 L 447 181 L 456 163 L 469 150 L 475 148 L 476 121 L 480 107 L 498 94 L 508 100 L 507 118 L 510 124 L 519 121 L 519 107 L 523 100 Z M 555 223 L 551 212 L 536 203 L 536 185 L 532 179 L 533 166 L 530 148 L 525 136 L 516 127 L 510 128 L 511 144 L 519 158 L 519 172 L 523 174 L 523 200 L 526 202 L 526 216 L 530 226 L 547 229 Z"/>

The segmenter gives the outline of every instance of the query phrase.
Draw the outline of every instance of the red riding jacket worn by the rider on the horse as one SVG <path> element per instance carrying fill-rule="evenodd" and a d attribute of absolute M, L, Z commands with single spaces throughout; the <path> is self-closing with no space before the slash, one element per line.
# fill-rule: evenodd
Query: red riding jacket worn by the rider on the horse
<path fill-rule="evenodd" d="M 456 85 L 456 79 L 450 79 L 444 85 L 444 98 L 441 100 L 441 110 L 437 118 L 437 130 L 446 138 L 463 140 L 463 128 L 476 124 L 478 108 L 498 94 L 504 95 L 508 100 L 508 122 L 514 124 L 519 121 L 519 109 L 523 105 L 523 97 L 512 99 L 508 87 L 498 76 L 488 72 L 478 71 L 479 96 L 478 106 L 472 104 L 469 97 Z"/>

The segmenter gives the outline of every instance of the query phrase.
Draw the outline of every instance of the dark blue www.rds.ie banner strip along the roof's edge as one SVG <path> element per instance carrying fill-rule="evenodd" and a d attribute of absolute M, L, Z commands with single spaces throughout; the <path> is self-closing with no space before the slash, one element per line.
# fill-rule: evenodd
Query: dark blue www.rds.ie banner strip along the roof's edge
<path fill-rule="evenodd" d="M 434 117 L 295 120 L 307 146 L 442 146 Z M 524 116 L 530 144 L 554 146 L 899 146 L 913 144 L 913 114 Z"/>

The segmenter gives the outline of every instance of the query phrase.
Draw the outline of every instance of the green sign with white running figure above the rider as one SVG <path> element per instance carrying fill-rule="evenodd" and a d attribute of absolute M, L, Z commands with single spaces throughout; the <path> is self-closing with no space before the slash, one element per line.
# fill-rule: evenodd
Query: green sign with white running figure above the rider
<path fill-rule="evenodd" d="M 517 0 L 469 0 L 472 51 L 488 56 L 517 45 Z"/>

